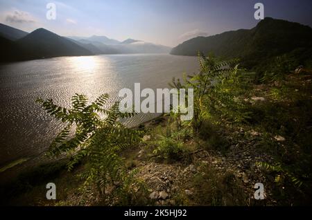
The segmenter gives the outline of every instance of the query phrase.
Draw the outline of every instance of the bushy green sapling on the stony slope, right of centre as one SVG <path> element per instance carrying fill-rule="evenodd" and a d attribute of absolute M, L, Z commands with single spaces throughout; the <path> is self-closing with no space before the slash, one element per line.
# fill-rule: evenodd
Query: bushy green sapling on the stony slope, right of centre
<path fill-rule="evenodd" d="M 234 122 L 246 122 L 250 111 L 242 97 L 253 82 L 254 73 L 239 69 L 236 60 L 224 62 L 212 55 L 205 57 L 198 53 L 198 62 L 198 74 L 184 77 L 184 84 L 175 79 L 171 84 L 177 89 L 194 89 L 194 116 L 191 120 L 194 131 L 198 131 L 202 121 L 211 114 Z"/>

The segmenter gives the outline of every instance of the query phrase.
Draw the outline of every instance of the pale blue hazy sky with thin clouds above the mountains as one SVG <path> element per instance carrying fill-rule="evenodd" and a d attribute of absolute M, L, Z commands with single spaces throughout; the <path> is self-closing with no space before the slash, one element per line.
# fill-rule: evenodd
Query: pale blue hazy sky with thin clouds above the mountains
<path fill-rule="evenodd" d="M 312 0 L 0 0 L 0 23 L 28 32 L 46 28 L 62 36 L 177 46 L 192 37 L 253 28 L 257 2 L 265 17 L 312 27 Z M 46 19 L 48 3 L 55 3 L 55 20 Z"/>

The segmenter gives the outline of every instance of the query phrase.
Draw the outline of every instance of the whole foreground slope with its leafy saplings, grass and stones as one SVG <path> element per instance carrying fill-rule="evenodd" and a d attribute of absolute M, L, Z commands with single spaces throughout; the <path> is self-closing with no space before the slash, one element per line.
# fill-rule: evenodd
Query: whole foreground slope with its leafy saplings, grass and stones
<path fill-rule="evenodd" d="M 191 121 L 170 113 L 127 129 L 118 118 L 130 115 L 116 111 L 116 104 L 107 107 L 107 95 L 91 104 L 75 95 L 71 109 L 38 100 L 67 123 L 49 152 L 69 159 L 21 176 L 6 190 L 10 203 L 311 204 L 311 71 L 284 73 L 284 63 L 277 62 L 275 72 L 255 84 L 255 74 L 236 61 L 198 59 L 198 74 L 171 83 L 195 88 Z M 58 185 L 56 201 L 45 199 L 47 181 Z M 264 200 L 254 199 L 255 183 L 263 183 Z"/>

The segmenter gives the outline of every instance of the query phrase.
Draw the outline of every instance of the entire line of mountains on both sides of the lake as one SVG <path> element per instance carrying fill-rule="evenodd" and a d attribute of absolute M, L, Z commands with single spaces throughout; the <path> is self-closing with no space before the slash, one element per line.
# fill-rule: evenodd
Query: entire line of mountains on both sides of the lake
<path fill-rule="evenodd" d="M 138 39 L 119 42 L 105 36 L 61 37 L 39 28 L 32 33 L 0 24 L 0 62 L 44 57 L 121 54 L 169 53 L 197 55 L 213 53 L 225 59 L 239 58 L 247 68 L 273 65 L 283 55 L 288 63 L 312 66 L 312 28 L 280 19 L 266 18 L 250 30 L 233 30 L 209 37 L 195 37 L 169 48 Z"/>

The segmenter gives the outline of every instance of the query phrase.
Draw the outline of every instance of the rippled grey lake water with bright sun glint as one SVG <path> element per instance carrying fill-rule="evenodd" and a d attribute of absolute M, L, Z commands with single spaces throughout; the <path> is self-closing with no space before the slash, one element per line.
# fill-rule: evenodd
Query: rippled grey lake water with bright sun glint
<path fill-rule="evenodd" d="M 75 93 L 90 101 L 102 93 L 118 98 L 120 89 L 133 89 L 135 82 L 144 88 L 168 88 L 172 77 L 196 73 L 196 57 L 173 55 L 95 55 L 56 57 L 0 66 L 0 165 L 19 158 L 35 158 L 49 147 L 62 128 L 35 103 L 37 98 L 52 98 L 69 107 Z M 138 125 L 155 114 L 139 114 L 127 122 Z"/>

